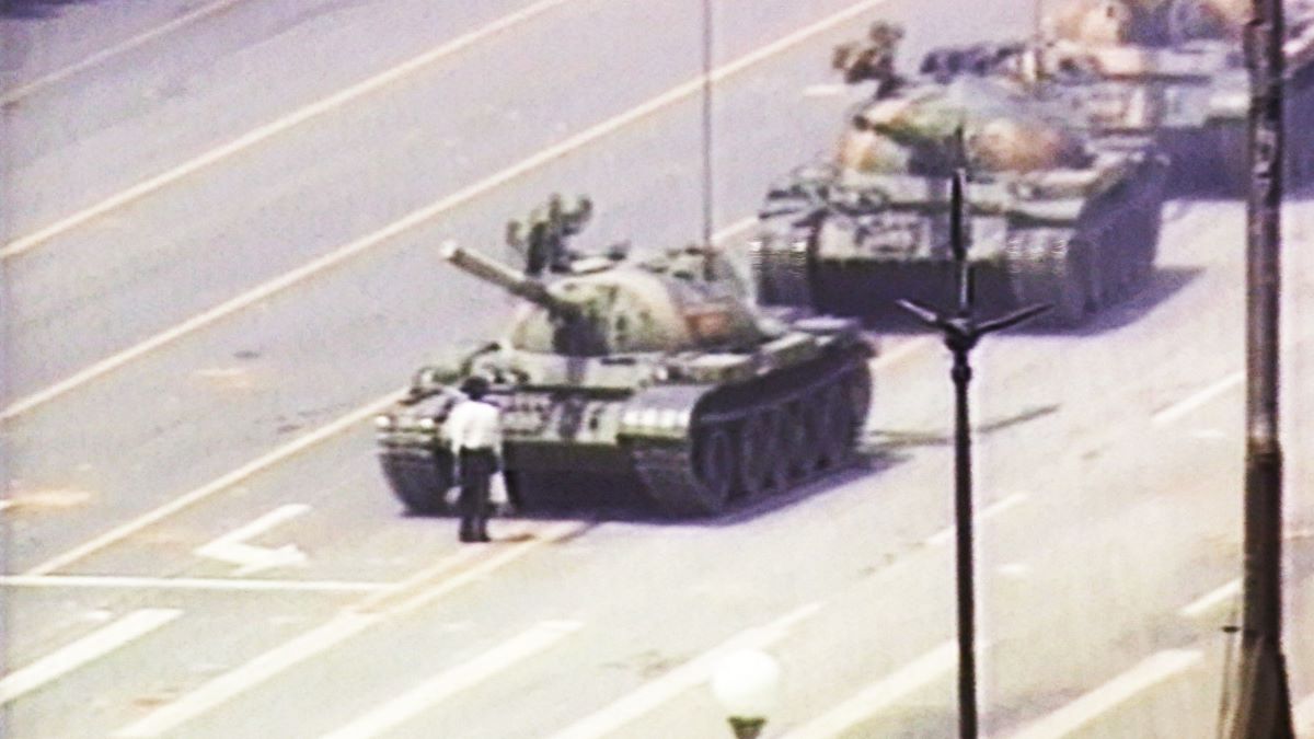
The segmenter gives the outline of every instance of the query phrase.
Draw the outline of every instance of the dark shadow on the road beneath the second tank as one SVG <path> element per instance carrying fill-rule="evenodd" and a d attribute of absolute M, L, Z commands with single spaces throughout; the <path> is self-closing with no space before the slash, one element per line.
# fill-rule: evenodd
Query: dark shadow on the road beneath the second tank
<path fill-rule="evenodd" d="M 1055 326 L 1041 318 L 1033 323 L 1025 323 L 1012 329 L 1009 333 L 1041 337 L 1084 337 L 1121 329 L 1122 326 L 1138 321 L 1142 316 L 1150 313 L 1158 305 L 1167 302 L 1168 298 L 1190 284 L 1190 281 L 1198 277 L 1202 272 L 1204 268 L 1201 267 L 1162 267 L 1150 275 L 1147 283 L 1139 292 L 1117 304 L 1104 308 L 1100 313 L 1088 317 L 1085 323 L 1080 326 Z M 947 308 L 951 300 L 953 295 L 950 285 L 946 284 L 943 302 L 934 302 L 933 306 Z M 978 314 L 989 318 L 1003 314 L 1010 309 L 1010 306 L 987 304 L 978 308 Z M 918 323 L 916 318 L 901 310 L 892 301 L 888 309 L 863 316 L 862 325 L 869 331 L 886 335 L 913 335 L 929 333 L 922 323 Z"/>

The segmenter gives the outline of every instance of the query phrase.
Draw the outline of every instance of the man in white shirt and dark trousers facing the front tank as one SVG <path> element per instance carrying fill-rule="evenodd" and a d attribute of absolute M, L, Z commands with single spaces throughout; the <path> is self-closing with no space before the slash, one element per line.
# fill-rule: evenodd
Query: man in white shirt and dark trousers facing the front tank
<path fill-rule="evenodd" d="M 502 455 L 501 412 L 484 400 L 489 392 L 485 377 L 468 377 L 461 383 L 461 392 L 468 400 L 457 404 L 447 419 L 447 433 L 461 479 L 461 497 L 457 501 L 461 513 L 460 539 L 487 542 L 489 483 L 498 471 Z"/>

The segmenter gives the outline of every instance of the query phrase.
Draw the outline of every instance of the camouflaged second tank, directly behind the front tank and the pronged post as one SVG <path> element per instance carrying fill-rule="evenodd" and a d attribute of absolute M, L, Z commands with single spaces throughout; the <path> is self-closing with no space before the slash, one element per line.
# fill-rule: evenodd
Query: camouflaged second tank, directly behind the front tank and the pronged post
<path fill-rule="evenodd" d="M 943 298 L 961 159 L 983 302 L 1049 302 L 1075 326 L 1152 271 L 1167 170 L 1152 146 L 1088 141 L 989 79 L 904 82 L 853 112 L 830 162 L 770 191 L 750 242 L 758 300 L 871 314 Z"/>

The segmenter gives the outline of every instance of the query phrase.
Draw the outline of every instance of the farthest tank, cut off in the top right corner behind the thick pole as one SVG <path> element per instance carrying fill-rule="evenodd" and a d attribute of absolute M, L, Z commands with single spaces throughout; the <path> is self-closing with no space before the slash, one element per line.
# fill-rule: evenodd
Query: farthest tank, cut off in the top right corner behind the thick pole
<path fill-rule="evenodd" d="M 1068 0 L 1043 39 L 942 47 L 921 72 L 1005 78 L 1077 113 L 1095 135 L 1154 137 L 1183 191 L 1246 181 L 1248 0 Z M 1314 4 L 1286 4 L 1286 172 L 1314 175 Z"/>

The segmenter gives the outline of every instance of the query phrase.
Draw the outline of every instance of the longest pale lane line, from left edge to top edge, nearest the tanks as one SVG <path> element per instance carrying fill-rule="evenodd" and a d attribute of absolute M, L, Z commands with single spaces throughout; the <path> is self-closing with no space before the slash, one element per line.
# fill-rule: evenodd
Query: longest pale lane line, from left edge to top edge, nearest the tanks
<path fill-rule="evenodd" d="M 360 238 L 357 238 L 357 239 L 355 239 L 355 241 L 352 241 L 352 242 L 350 242 L 347 245 L 343 245 L 343 246 L 335 249 L 334 251 L 331 251 L 328 254 L 325 254 L 323 256 L 321 256 L 318 259 L 314 259 L 314 260 L 311 260 L 311 262 L 309 262 L 306 264 L 302 264 L 301 267 L 298 267 L 298 268 L 296 268 L 296 270 L 293 270 L 290 272 L 285 272 L 284 275 L 281 275 L 279 277 L 275 277 L 273 280 L 269 280 L 267 283 L 263 283 L 263 284 L 260 284 L 260 285 L 258 285 L 258 287 L 255 287 L 255 288 L 252 288 L 252 289 L 250 289 L 250 291 L 247 291 L 247 292 L 244 292 L 244 293 L 242 293 L 242 295 L 239 295 L 237 297 L 233 297 L 233 298 L 230 298 L 230 300 L 227 300 L 227 301 L 225 301 L 225 302 L 222 302 L 222 304 L 219 304 L 219 305 L 217 305 L 217 306 L 214 306 L 214 308 L 212 308 L 212 309 L 209 309 L 209 310 L 206 310 L 204 313 L 193 316 L 192 318 L 188 318 L 187 321 L 184 321 L 184 322 L 181 322 L 181 323 L 179 323 L 179 325 L 176 325 L 176 326 L 173 326 L 171 329 L 167 329 L 167 330 L 164 330 L 164 331 L 162 331 L 159 334 L 155 334 L 154 337 L 151 337 L 151 338 L 148 338 L 148 339 L 146 339 L 146 341 L 143 341 L 143 342 L 141 342 L 141 343 L 138 343 L 138 345 L 135 345 L 135 346 L 133 346 L 130 348 L 126 348 L 126 350 L 124 350 L 124 351 L 121 351 L 118 354 L 106 356 L 105 359 L 101 359 L 100 362 L 96 362 L 95 364 L 92 364 L 92 366 L 89 366 L 89 367 L 87 367 L 87 368 L 84 368 L 84 370 L 81 370 L 81 371 L 71 375 L 70 377 L 66 377 L 64 380 L 60 380 L 60 381 L 55 383 L 54 385 L 50 385 L 50 387 L 47 387 L 45 389 L 41 389 L 41 391 L 37 391 L 35 393 L 33 393 L 30 396 L 18 398 L 14 402 L 12 402 L 8 408 L 5 408 L 3 412 L 0 412 L 0 421 L 5 421 L 5 419 L 13 418 L 13 417 L 16 417 L 16 416 L 18 416 L 18 414 L 21 414 L 24 412 L 32 410 L 33 408 L 35 408 L 35 406 L 38 406 L 38 405 L 41 405 L 43 402 L 47 402 L 47 401 L 50 401 L 50 400 L 53 400 L 55 397 L 59 397 L 59 396 L 64 394 L 66 392 L 68 392 L 68 391 L 71 391 L 74 388 L 78 388 L 78 387 L 85 384 L 85 383 L 88 383 L 91 380 L 95 380 L 95 379 L 100 377 L 101 375 L 105 375 L 106 372 L 117 370 L 118 367 L 122 367 L 124 364 L 127 364 L 129 362 L 131 362 L 131 360 L 134 360 L 134 359 L 137 359 L 137 358 L 139 358 L 139 356 L 142 356 L 145 354 L 148 354 L 148 352 L 151 352 L 151 351 L 154 351 L 154 350 L 156 350 L 156 348 L 159 348 L 159 347 L 162 347 L 162 346 L 164 346 L 167 343 L 171 343 L 171 342 L 173 342 L 173 341 L 176 341 L 179 338 L 183 338 L 183 337 L 185 337 L 185 335 L 188 335 L 191 333 L 194 333 L 194 331 L 197 331 L 197 330 L 200 330 L 200 329 L 202 329 L 205 326 L 209 326 L 210 323 L 213 323 L 213 322 L 215 322 L 215 321 L 218 321 L 221 318 L 225 318 L 225 317 L 227 317 L 227 316 L 230 316 L 230 314 L 233 314 L 233 313 L 235 313 L 238 310 L 248 308 L 248 306 L 251 306 L 251 305 L 254 305 L 256 302 L 264 301 L 264 300 L 269 298 L 271 296 L 273 296 L 275 293 L 279 293 L 279 292 L 281 292 L 281 291 L 284 291 L 284 289 L 286 289 L 286 288 L 289 288 L 289 287 L 292 287 L 292 285 L 294 285 L 297 283 L 301 283 L 302 280 L 306 280 L 306 279 L 309 279 L 309 277 L 311 277 L 314 275 L 318 275 L 319 272 L 323 272 L 323 271 L 326 271 L 326 270 L 328 270 L 331 267 L 335 267 L 339 263 L 346 262 L 347 259 L 355 256 L 356 254 L 360 254 L 363 251 L 373 249 L 374 246 L 378 246 L 380 243 L 384 243 L 385 241 L 388 241 L 388 239 L 390 239 L 393 237 L 397 237 L 397 235 L 399 235 L 399 234 L 402 234 L 402 233 L 405 233 L 405 231 L 407 231 L 407 230 L 410 230 L 410 229 L 413 229 L 413 227 L 415 227 L 415 226 L 418 226 L 418 225 L 420 225 L 420 224 L 423 224 L 426 221 L 430 221 L 435 216 L 445 213 L 447 210 L 451 210 L 451 209 L 453 209 L 453 208 L 456 208 L 459 205 L 463 205 L 463 204 L 465 204 L 465 203 L 468 203 L 468 201 L 470 201 L 470 200 L 473 200 L 473 199 L 476 199 L 476 197 L 478 197 L 478 196 L 481 196 L 481 195 L 484 195 L 484 193 L 486 193 L 486 192 L 489 192 L 489 191 L 491 191 L 491 189 L 494 189 L 497 187 L 501 187 L 502 184 L 506 184 L 506 183 L 514 180 L 515 178 L 518 178 L 518 176 L 520 176 L 520 175 L 523 175 L 526 172 L 530 172 L 530 171 L 537 168 L 537 167 L 548 164 L 549 162 L 552 162 L 555 159 L 565 156 L 566 154 L 569 154 L 569 153 L 572 153 L 572 151 L 574 151 L 577 149 L 581 149 L 581 147 L 583 147 L 583 146 L 586 146 L 589 143 L 593 143 L 594 141 L 597 141 L 597 139 L 599 139 L 599 138 L 602 138 L 602 137 L 604 137 L 604 135 L 607 135 L 607 134 L 610 134 L 610 133 L 612 133 L 612 131 L 615 131 L 618 129 L 622 129 L 622 128 L 624 128 L 624 126 L 627 126 L 627 125 L 629 125 L 629 124 L 632 124 L 635 121 L 639 121 L 639 120 L 644 118 L 645 116 L 649 116 L 649 114 L 652 114 L 652 113 L 654 113 L 654 112 L 657 112 L 657 110 L 660 110 L 660 109 L 662 109 L 662 108 L 665 108 L 665 107 L 668 107 L 668 105 L 670 105 L 673 103 L 677 103 L 677 101 L 679 101 L 683 97 L 690 97 L 690 96 L 700 92 L 703 89 L 703 85 L 708 80 L 711 80 L 714 83 L 719 82 L 719 80 L 723 80 L 723 79 L 725 79 L 725 78 L 728 78 L 728 76 L 731 76 L 731 75 L 733 75 L 736 72 L 740 72 L 740 71 L 742 71 L 742 70 L 745 70 L 745 68 L 748 68 L 748 67 L 750 67 L 750 66 L 753 66 L 753 64 L 756 64 L 758 62 L 762 62 L 763 59 L 767 59 L 773 54 L 778 54 L 781 51 L 784 51 L 786 49 L 788 49 L 791 46 L 795 46 L 795 45 L 803 42 L 803 41 L 808 39 L 812 36 L 816 36 L 816 34 L 819 34 L 819 33 L 821 33 L 824 30 L 828 30 L 830 26 L 838 25 L 838 24 L 849 20 L 853 16 L 861 14 L 862 12 L 865 12 L 865 11 L 867 11 L 870 8 L 874 8 L 874 7 L 884 4 L 884 3 L 888 3 L 888 0 L 863 0 L 862 3 L 858 3 L 855 5 L 850 5 L 845 11 L 841 11 L 841 12 L 838 12 L 836 14 L 832 14 L 832 16 L 829 16 L 829 17 L 819 21 L 819 22 L 815 22 L 815 24 L 812 24 L 809 26 L 805 26 L 805 28 L 803 28 L 803 29 L 800 29 L 798 32 L 794 32 L 794 33 L 791 33 L 791 34 L 788 34 L 788 36 L 786 36 L 783 38 L 779 38 L 779 39 L 777 39 L 777 41 L 774 41 L 774 42 L 771 42 L 771 43 L 769 43 L 766 46 L 762 46 L 762 47 L 757 49 L 756 51 L 745 54 L 744 57 L 740 57 L 738 59 L 736 59 L 736 60 L 733 60 L 733 62 L 731 62 L 731 63 L 728 63 L 728 64 L 725 64 L 723 67 L 717 67 L 716 70 L 712 71 L 711 75 L 699 75 L 698 78 L 695 78 L 692 80 L 689 80 L 689 82 L 686 82 L 683 84 L 678 84 L 674 88 L 666 91 L 665 93 L 658 95 L 657 97 L 653 97 L 653 99 L 648 100 L 646 103 L 644 103 L 644 104 L 641 104 L 641 105 L 639 105 L 636 108 L 631 108 L 629 110 L 627 110 L 624 113 L 620 113 L 619 116 L 615 116 L 615 117 L 612 117 L 612 118 L 610 118 L 607 121 L 603 121 L 602 124 L 598 124 L 598 125 L 595 125 L 595 126 L 593 126 L 593 128 L 590 128 L 587 130 L 583 130 L 583 131 L 581 131 L 581 133 L 578 133 L 578 134 L 576 134 L 576 135 L 573 135 L 573 137 L 570 137 L 570 138 L 568 138 L 568 139 L 565 139 L 565 141 L 562 141 L 560 143 L 556 143 L 556 145 L 553 145 L 553 146 L 551 146 L 548 149 L 544 149 L 544 150 L 539 151 L 537 154 L 535 154 L 535 155 L 532 155 L 532 156 L 530 156 L 527 159 L 520 160 L 518 164 L 507 167 L 506 170 L 502 170 L 501 172 L 497 172 L 497 174 L 494 174 L 494 175 L 491 175 L 489 178 L 485 178 L 484 180 L 480 180 L 478 183 L 474 183 L 473 185 L 469 185 L 469 187 L 466 187 L 466 188 L 464 188 L 461 191 L 457 191 L 457 192 L 455 192 L 452 195 L 448 195 L 448 196 L 445 196 L 445 197 L 443 197 L 443 199 L 440 199 L 440 200 L 438 200 L 435 203 L 431 203 L 430 205 L 426 205 L 426 206 L 423 206 L 423 208 L 420 208 L 418 210 L 413 210 L 411 213 L 401 217 L 397 221 L 393 221 L 392 224 L 384 226 L 382 229 L 378 229 L 378 230 L 376 230 L 376 231 L 373 231 L 371 234 L 360 237 Z"/>

